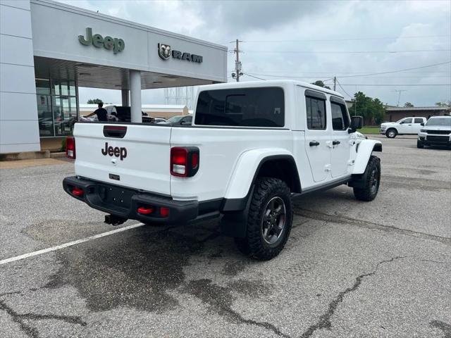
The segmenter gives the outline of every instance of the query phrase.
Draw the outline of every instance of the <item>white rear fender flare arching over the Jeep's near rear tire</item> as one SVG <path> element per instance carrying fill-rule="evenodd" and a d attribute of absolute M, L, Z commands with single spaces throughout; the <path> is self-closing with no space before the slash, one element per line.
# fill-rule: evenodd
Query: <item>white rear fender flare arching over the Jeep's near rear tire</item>
<path fill-rule="evenodd" d="M 252 192 L 252 187 L 259 170 L 264 163 L 273 160 L 288 160 L 295 165 L 297 184 L 300 180 L 297 173 L 297 165 L 294 156 L 286 149 L 267 148 L 252 149 L 240 155 L 230 176 L 226 194 L 224 195 L 221 211 L 240 211 L 246 207 L 247 200 Z"/>

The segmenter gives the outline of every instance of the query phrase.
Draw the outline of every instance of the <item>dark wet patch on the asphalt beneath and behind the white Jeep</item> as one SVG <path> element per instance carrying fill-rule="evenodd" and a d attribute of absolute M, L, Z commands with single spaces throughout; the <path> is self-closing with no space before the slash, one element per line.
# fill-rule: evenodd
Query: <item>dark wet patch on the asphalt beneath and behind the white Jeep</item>
<path fill-rule="evenodd" d="M 192 256 L 196 256 L 196 265 L 209 265 L 221 260 L 224 252 L 230 253 L 233 259 L 227 260 L 221 271 L 228 280 L 250 263 L 249 258 L 237 252 L 233 239 L 222 237 L 215 225 L 144 226 L 121 236 L 58 252 L 61 267 L 44 288 L 75 287 L 90 311 L 127 306 L 162 313 L 179 305 L 180 293 L 197 296 L 214 308 L 220 304 L 212 303 L 211 297 L 221 294 L 222 308 L 218 308 L 218 313 L 235 320 L 236 316 L 230 317 L 231 310 L 226 310 L 232 303 L 232 291 L 259 294 L 268 289 L 265 284 L 249 280 L 233 280 L 221 287 L 207 278 L 186 280 L 185 268 L 192 264 Z M 207 243 L 215 239 L 218 240 L 214 245 L 210 243 L 212 247 L 205 250 Z"/>

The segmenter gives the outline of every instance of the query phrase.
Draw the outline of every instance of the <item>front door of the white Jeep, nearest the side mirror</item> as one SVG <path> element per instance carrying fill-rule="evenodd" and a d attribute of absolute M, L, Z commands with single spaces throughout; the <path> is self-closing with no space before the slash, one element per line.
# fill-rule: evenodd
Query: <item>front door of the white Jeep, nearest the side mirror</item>
<path fill-rule="evenodd" d="M 347 132 L 350 117 L 347 113 L 345 101 L 330 96 L 330 113 L 332 115 L 332 149 L 330 151 L 330 165 L 332 177 L 349 175 L 351 137 Z"/>

